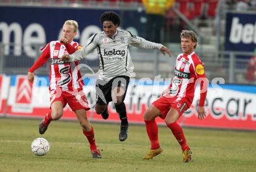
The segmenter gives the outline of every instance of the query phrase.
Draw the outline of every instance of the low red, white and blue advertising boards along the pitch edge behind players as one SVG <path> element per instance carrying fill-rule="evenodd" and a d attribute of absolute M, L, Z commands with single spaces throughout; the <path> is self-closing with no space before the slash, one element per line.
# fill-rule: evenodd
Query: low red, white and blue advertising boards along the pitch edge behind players
<path fill-rule="evenodd" d="M 205 100 L 206 118 L 197 119 L 200 87 L 195 89 L 193 104 L 179 123 L 183 126 L 206 127 L 215 129 L 256 130 L 256 90 L 250 85 L 224 85 L 221 80 L 212 81 Z M 120 122 L 115 106 L 109 104 L 109 118 L 103 120 L 94 111 L 95 78 L 84 79 L 90 111 L 88 119 L 100 122 Z M 131 79 L 125 98 L 127 117 L 130 123 L 144 124 L 144 112 L 156 100 L 162 90 L 169 86 L 170 80 L 160 78 Z M 49 80 L 45 76 L 36 76 L 34 85 L 26 75 L 0 75 L 0 116 L 19 118 L 43 118 L 49 111 Z M 64 108 L 62 119 L 76 120 L 72 109 Z M 161 118 L 158 125 L 165 125 Z"/>

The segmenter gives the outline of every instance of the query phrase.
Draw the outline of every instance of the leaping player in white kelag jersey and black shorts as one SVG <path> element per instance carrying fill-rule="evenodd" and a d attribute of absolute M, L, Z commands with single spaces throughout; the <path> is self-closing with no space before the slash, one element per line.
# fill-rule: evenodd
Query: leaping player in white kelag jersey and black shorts
<path fill-rule="evenodd" d="M 113 101 L 121 120 L 119 140 L 125 141 L 128 136 L 129 123 L 123 101 L 125 100 L 130 77 L 134 77 L 133 63 L 128 47 L 159 49 L 163 54 L 168 53 L 169 56 L 170 50 L 159 43 L 134 36 L 129 31 L 119 30 L 120 17 L 115 12 L 103 13 L 101 23 L 104 31 L 91 36 L 81 50 L 77 50 L 70 56 L 63 56 L 62 60 L 81 60 L 97 48 L 99 78 L 96 84 L 97 104 L 95 110 L 97 114 L 102 115 L 102 118 L 107 119 L 108 103 Z M 68 46 L 68 44 L 66 45 Z"/>

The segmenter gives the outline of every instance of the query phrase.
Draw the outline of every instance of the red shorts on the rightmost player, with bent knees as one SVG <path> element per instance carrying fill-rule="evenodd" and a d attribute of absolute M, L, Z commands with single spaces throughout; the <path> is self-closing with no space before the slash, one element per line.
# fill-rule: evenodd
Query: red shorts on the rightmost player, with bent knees
<path fill-rule="evenodd" d="M 161 111 L 161 114 L 159 117 L 162 119 L 165 119 L 166 115 L 170 111 L 170 108 L 175 108 L 179 115 L 182 116 L 183 112 L 186 111 L 192 101 L 189 98 L 182 98 L 181 100 L 177 100 L 177 97 L 165 97 L 161 96 L 156 101 L 154 101 L 152 104 Z"/>

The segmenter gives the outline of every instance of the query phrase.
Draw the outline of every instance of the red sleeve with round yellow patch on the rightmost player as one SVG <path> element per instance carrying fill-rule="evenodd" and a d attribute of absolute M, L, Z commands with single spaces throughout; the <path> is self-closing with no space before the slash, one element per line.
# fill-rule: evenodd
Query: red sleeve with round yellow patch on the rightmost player
<path fill-rule="evenodd" d="M 205 103 L 205 98 L 207 96 L 207 89 L 208 89 L 208 80 L 205 75 L 204 71 L 204 64 L 201 60 L 197 57 L 194 59 L 194 67 L 195 67 L 195 76 L 197 79 L 197 83 L 200 83 L 200 101 L 199 106 L 203 107 Z"/>

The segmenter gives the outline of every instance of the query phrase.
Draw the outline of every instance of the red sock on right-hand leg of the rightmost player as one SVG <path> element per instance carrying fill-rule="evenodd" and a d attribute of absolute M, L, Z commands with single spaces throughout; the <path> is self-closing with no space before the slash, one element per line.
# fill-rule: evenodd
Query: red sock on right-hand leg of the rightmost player
<path fill-rule="evenodd" d="M 182 146 L 182 151 L 189 150 L 190 148 L 189 145 L 187 145 L 182 127 L 180 127 L 177 122 L 169 123 L 167 126 L 170 130 L 172 130 L 172 133 L 175 136 L 176 140 Z"/>

